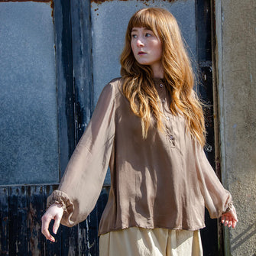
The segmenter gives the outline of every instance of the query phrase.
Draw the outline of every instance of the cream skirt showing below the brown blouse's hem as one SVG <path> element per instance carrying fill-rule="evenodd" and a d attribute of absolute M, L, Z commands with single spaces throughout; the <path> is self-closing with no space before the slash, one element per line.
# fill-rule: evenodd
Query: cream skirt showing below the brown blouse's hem
<path fill-rule="evenodd" d="M 101 235 L 100 256 L 203 256 L 199 230 L 126 228 Z"/>

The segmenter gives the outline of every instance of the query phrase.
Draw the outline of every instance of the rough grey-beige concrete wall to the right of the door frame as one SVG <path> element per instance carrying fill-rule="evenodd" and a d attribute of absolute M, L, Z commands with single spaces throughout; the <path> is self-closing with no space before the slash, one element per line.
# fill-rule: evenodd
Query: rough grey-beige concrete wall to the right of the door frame
<path fill-rule="evenodd" d="M 225 255 L 256 255 L 256 1 L 215 0 L 222 182 L 238 212 Z"/>

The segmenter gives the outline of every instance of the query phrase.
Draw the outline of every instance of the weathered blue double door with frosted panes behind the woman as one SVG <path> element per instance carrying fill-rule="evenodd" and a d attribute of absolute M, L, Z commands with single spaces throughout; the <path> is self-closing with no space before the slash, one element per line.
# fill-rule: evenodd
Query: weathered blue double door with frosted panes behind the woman
<path fill-rule="evenodd" d="M 2 119 L 5 140 L 1 142 L 1 161 L 5 163 L 0 170 L 1 255 L 98 255 L 97 229 L 108 196 L 109 173 L 93 212 L 85 222 L 74 228 L 61 227 L 55 244 L 45 241 L 41 235 L 41 215 L 45 209 L 46 198 L 57 188 L 103 86 L 119 76 L 118 57 L 124 43 L 125 29 L 129 18 L 138 9 L 147 6 L 167 8 L 177 18 L 193 59 L 194 70 L 199 70 L 200 83 L 196 90 L 201 93 L 203 99 L 212 103 L 210 1 L 56 0 L 40 3 L 31 1 L 26 5 L 24 1 L 21 2 L 0 1 L 0 23 L 3 24 L 2 20 L 5 18 L 4 24 L 12 21 L 12 26 L 15 26 L 11 15 L 18 10 L 15 12 L 18 18 L 25 12 L 27 16 L 20 17 L 20 29 L 38 31 L 33 38 L 28 38 L 30 40 L 26 41 L 24 37 L 26 45 L 29 49 L 32 48 L 28 63 L 34 60 L 33 54 L 41 54 L 37 56 L 38 61 L 45 62 L 38 66 L 37 61 L 34 70 L 29 70 L 34 66 L 32 63 L 24 70 L 24 77 L 21 76 L 22 72 L 18 72 L 16 80 L 11 82 L 13 89 L 10 89 L 8 81 L 8 77 L 12 77 L 11 73 L 5 76 L 5 79 L 1 76 L 0 80 L 6 86 L 2 87 L 3 93 L 5 92 L 3 102 L 6 99 L 12 102 L 22 99 L 21 105 L 24 106 L 20 109 L 21 112 L 17 112 L 17 106 L 16 109 L 11 109 L 15 118 L 11 119 L 12 123 L 7 124 L 6 122 L 11 122 L 12 115 L 8 104 L 3 104 L 7 117 Z M 1 7 L 4 11 L 9 10 L 9 13 L 5 12 L 6 17 L 3 16 Z M 39 11 L 39 8 L 46 8 L 46 11 Z M 36 19 L 38 16 L 33 20 L 31 15 L 36 10 L 37 15 L 41 14 L 39 21 Z M 53 17 L 49 11 L 53 11 Z M 30 15 L 31 21 L 27 24 L 24 18 L 29 19 Z M 35 21 L 39 27 L 40 22 L 45 20 L 48 23 L 44 24 L 41 30 L 30 28 Z M 8 34 L 8 28 L 3 25 L 0 28 Z M 9 30 L 12 31 L 13 28 L 10 27 Z M 41 35 L 40 31 L 45 34 Z M 44 41 L 44 44 L 41 44 L 41 41 Z M 10 41 L 0 39 L 0 44 L 10 44 Z M 38 44 L 44 48 L 38 49 Z M 24 50 L 27 52 L 28 48 Z M 17 53 L 20 54 L 24 58 L 24 51 Z M 21 64 L 22 61 L 17 70 Z M 33 76 L 38 70 L 41 70 L 40 73 Z M 24 84 L 18 83 L 19 77 Z M 39 83 L 41 79 L 43 82 Z M 36 88 L 34 84 L 37 85 Z M 214 165 L 212 108 L 206 110 L 209 130 L 206 151 Z M 24 122 L 24 117 L 27 122 Z M 34 123 L 31 124 L 29 118 Z M 10 126 L 19 120 L 23 124 L 20 125 L 20 130 L 19 127 L 14 128 L 15 126 L 10 129 Z M 12 141 L 13 138 L 18 141 L 18 147 L 17 143 Z M 11 147 L 8 147 L 9 141 Z M 202 231 L 204 254 L 221 254 L 218 252 L 217 222 L 209 220 L 206 214 L 206 225 L 207 228 Z"/>

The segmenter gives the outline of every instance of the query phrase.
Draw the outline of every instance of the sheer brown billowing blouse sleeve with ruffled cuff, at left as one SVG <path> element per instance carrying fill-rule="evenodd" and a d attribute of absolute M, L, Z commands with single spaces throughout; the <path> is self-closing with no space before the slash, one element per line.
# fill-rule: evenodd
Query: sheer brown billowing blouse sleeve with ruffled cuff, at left
<path fill-rule="evenodd" d="M 62 204 L 63 225 L 73 226 L 82 222 L 92 212 L 99 198 L 115 136 L 114 91 L 111 84 L 103 89 L 58 190 L 53 191 L 47 199 L 47 206 Z"/>

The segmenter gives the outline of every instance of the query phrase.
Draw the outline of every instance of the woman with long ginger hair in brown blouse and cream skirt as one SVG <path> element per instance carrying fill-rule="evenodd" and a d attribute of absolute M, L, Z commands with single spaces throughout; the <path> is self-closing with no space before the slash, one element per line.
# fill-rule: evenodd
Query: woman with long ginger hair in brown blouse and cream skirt
<path fill-rule="evenodd" d="M 122 78 L 102 91 L 60 187 L 48 198 L 42 232 L 55 219 L 86 219 L 111 170 L 99 225 L 101 255 L 203 255 L 205 206 L 235 228 L 230 193 L 203 152 L 203 110 L 177 21 L 161 8 L 137 11 L 121 56 Z"/>

